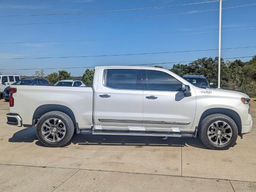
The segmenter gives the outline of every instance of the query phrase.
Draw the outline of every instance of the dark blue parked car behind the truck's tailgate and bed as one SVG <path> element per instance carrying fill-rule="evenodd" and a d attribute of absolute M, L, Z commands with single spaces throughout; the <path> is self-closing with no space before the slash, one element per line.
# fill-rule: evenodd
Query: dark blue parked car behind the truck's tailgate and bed
<path fill-rule="evenodd" d="M 49 86 L 49 82 L 42 78 L 24 78 L 16 81 L 13 85 L 40 85 L 40 86 Z M 10 86 L 4 89 L 3 98 L 6 101 L 10 99 Z"/>

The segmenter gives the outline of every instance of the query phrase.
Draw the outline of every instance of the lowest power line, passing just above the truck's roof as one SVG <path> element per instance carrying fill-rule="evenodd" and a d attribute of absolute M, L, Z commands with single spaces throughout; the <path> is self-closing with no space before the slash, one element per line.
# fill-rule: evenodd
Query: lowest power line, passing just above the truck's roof
<path fill-rule="evenodd" d="M 238 59 L 238 58 L 252 58 L 254 56 L 243 56 L 243 57 L 232 57 L 232 58 L 223 58 L 223 60 L 227 59 Z M 196 60 L 193 60 L 196 61 Z M 173 63 L 186 63 L 186 62 L 193 62 L 193 61 L 177 61 L 177 62 L 161 62 L 161 63 L 147 63 L 147 64 L 135 64 L 135 65 L 125 65 L 125 66 L 142 66 L 142 65 L 160 65 L 160 64 L 173 64 Z M 29 69 L 0 69 L 1 71 L 4 70 L 47 70 L 47 69 L 81 69 L 81 68 L 94 68 L 95 66 L 85 66 L 85 67 L 58 67 L 58 68 L 29 68 Z"/>

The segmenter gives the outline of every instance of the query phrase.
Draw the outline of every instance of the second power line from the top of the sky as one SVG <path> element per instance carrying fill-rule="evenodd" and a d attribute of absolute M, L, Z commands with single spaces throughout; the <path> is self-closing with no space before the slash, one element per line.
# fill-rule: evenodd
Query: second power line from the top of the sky
<path fill-rule="evenodd" d="M 226 8 L 223 8 L 223 9 L 239 8 L 239 7 L 252 6 L 252 5 L 256 5 L 256 3 L 255 4 L 241 5 L 241 6 L 234 6 L 234 7 L 226 7 Z M 45 23 L 9 23 L 9 24 L 0 24 L 0 25 L 71 24 L 71 23 L 86 23 L 86 22 L 105 22 L 105 21 L 135 20 L 135 19 L 143 19 L 143 18 L 156 18 L 156 17 L 162 17 L 162 16 L 173 16 L 173 15 L 182 15 L 182 14 L 201 13 L 201 12 L 209 12 L 209 11 L 215 11 L 215 10 L 219 10 L 219 9 L 210 9 L 210 10 L 201 10 L 201 11 L 190 11 L 190 12 L 183 12 L 183 13 L 173 13 L 173 14 L 163 14 L 163 15 L 143 16 L 143 17 L 119 18 L 119 19 L 67 21 L 67 22 L 45 22 Z"/>

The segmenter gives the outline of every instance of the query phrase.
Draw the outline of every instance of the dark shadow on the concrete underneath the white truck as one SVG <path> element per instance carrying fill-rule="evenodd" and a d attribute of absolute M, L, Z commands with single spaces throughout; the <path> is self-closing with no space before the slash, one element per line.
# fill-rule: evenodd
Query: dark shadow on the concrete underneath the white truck
<path fill-rule="evenodd" d="M 14 133 L 9 142 L 26 142 L 32 143 L 34 141 L 38 146 L 43 146 L 37 139 L 35 128 L 24 128 Z M 86 145 L 106 145 L 106 146 L 162 146 L 162 147 L 196 147 L 207 149 L 197 138 L 166 138 L 154 136 L 115 136 L 115 135 L 82 135 L 74 134 L 69 143 L 63 147 L 69 146 L 71 143 L 80 146 Z"/>

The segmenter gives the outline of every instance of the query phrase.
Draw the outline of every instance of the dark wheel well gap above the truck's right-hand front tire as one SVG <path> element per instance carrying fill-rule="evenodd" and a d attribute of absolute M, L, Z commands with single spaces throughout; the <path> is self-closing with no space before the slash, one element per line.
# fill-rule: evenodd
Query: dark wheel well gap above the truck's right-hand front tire
<path fill-rule="evenodd" d="M 226 108 L 211 108 L 211 109 L 205 110 L 205 112 L 203 112 L 203 114 L 201 115 L 200 120 L 199 120 L 199 124 L 198 124 L 199 129 L 200 129 L 202 120 L 205 117 L 212 115 L 212 114 L 223 114 L 223 115 L 226 115 L 226 116 L 229 116 L 230 118 L 232 118 L 232 120 L 236 123 L 236 126 L 238 128 L 238 134 L 241 134 L 242 121 L 241 121 L 239 114 L 232 109 L 226 109 Z"/>

